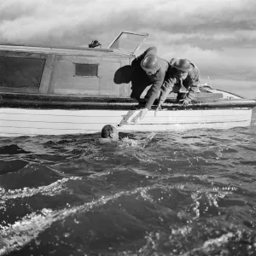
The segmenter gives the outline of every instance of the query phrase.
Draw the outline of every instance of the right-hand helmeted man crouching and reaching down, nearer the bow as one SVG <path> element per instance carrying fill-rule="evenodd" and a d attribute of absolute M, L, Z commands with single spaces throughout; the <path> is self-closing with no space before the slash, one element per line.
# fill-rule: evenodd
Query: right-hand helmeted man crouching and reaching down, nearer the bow
<path fill-rule="evenodd" d="M 177 93 L 177 102 L 183 101 L 183 107 L 187 107 L 200 92 L 201 74 L 198 67 L 189 60 L 172 58 L 170 68 L 166 73 L 165 83 L 160 89 L 160 99 L 156 111 L 166 101 L 171 93 Z"/>

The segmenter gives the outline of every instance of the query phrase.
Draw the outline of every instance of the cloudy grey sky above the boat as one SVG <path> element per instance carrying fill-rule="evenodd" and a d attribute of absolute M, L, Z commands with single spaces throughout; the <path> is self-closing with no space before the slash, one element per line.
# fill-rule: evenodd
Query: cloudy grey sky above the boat
<path fill-rule="evenodd" d="M 202 84 L 256 98 L 255 14 L 255 0 L 1 0 L 0 42 L 108 47 L 147 32 L 136 55 L 154 45 L 194 62 Z"/>

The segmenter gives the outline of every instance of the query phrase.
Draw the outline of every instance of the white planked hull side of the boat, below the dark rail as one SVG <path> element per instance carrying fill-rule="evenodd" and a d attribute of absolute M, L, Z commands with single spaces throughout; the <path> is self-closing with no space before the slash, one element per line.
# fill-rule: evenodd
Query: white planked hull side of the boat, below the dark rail
<path fill-rule="evenodd" d="M 139 110 L 75 110 L 0 108 L 0 136 L 37 136 L 96 133 L 104 125 L 119 131 L 180 131 L 228 129 L 251 123 L 252 108 L 178 109 L 148 111 L 143 120 L 131 120 Z"/>

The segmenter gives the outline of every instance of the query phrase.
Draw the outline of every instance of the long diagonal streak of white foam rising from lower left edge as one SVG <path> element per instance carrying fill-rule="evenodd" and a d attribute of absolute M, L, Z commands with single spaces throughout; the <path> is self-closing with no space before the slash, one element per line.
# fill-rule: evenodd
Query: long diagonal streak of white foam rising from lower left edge
<path fill-rule="evenodd" d="M 150 198 L 145 195 L 148 189 L 152 188 L 152 186 L 148 186 L 131 191 L 122 191 L 113 196 L 102 196 L 96 201 L 84 203 L 79 207 L 66 208 L 60 211 L 43 209 L 38 214 L 33 212 L 32 214 L 27 215 L 20 221 L 15 222 L 15 224 L 9 224 L 8 226 L 0 225 L 0 246 L 2 246 L 0 249 L 0 255 L 4 255 L 5 253 L 10 253 L 24 247 L 27 243 L 36 239 L 41 232 L 48 229 L 51 224 L 56 221 L 63 220 L 78 212 L 89 212 L 92 208 L 101 207 L 108 201 L 116 200 L 123 195 L 134 195 L 140 193 L 144 199 L 150 201 Z"/>

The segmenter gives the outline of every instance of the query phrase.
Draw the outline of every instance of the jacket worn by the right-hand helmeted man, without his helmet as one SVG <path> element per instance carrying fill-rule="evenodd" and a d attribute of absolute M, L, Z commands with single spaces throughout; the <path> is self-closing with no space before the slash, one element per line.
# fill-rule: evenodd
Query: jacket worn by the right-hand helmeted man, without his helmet
<path fill-rule="evenodd" d="M 199 92 L 199 85 L 201 82 L 201 74 L 199 71 L 199 68 L 195 66 L 194 63 L 190 62 L 191 70 L 188 73 L 188 76 L 186 79 L 180 79 L 177 76 L 177 69 L 173 67 L 174 62 L 176 62 L 177 59 L 173 58 L 170 61 L 170 68 L 168 72 L 166 73 L 166 80 L 163 86 L 161 87 L 160 92 L 160 103 L 166 101 L 166 97 L 170 94 L 170 92 L 177 93 L 181 88 L 184 87 L 184 89 L 187 90 L 187 94 L 185 97 L 188 97 L 190 100 L 195 98 L 195 94 Z"/>

